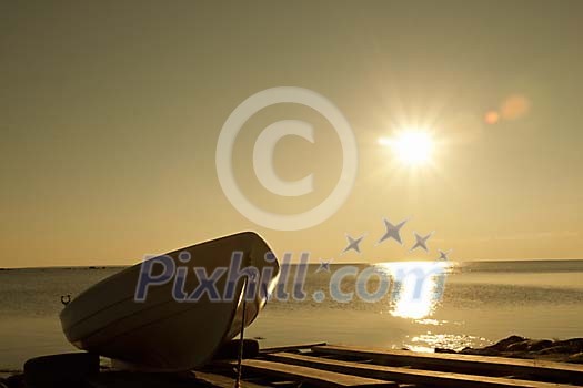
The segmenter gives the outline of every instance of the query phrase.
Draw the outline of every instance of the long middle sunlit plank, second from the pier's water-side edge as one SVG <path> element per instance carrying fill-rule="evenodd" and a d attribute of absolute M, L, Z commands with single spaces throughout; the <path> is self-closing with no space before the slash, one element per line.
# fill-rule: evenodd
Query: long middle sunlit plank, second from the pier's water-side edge
<path fill-rule="evenodd" d="M 340 374 L 349 374 L 353 376 L 365 376 L 382 380 L 449 388 L 574 388 L 574 386 L 556 385 L 552 382 L 514 380 L 500 377 L 388 367 L 285 353 L 271 354 L 268 356 L 268 358 L 279 363 L 284 363 L 287 365 L 291 364 L 310 366 L 312 368 L 324 369 Z"/>

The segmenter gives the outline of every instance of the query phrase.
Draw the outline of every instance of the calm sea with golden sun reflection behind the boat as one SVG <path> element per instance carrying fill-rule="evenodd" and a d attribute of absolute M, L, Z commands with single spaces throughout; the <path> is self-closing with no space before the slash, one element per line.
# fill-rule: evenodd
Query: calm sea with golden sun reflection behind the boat
<path fill-rule="evenodd" d="M 403 264 L 378 264 L 388 276 Z M 434 264 L 411 264 L 415 267 Z M 362 272 L 368 265 L 359 265 Z M 332 265 L 334 273 L 340 268 Z M 331 274 L 310 266 L 304 302 L 272 302 L 245 331 L 262 346 L 328 341 L 429 350 L 482 346 L 511 334 L 583 336 L 583 261 L 451 264 L 438 298 L 438 279 L 424 282 L 421 298 L 401 293 L 366 303 L 338 303 L 311 295 L 328 290 Z M 79 294 L 120 268 L 34 268 L 0 272 L 0 370 L 20 369 L 30 357 L 72 350 L 58 314 L 60 296 Z M 376 282 L 378 283 L 378 282 Z M 370 282 L 371 290 L 378 284 Z M 354 290 L 354 279 L 342 284 Z M 404 290 L 404 292 L 403 292 Z"/>

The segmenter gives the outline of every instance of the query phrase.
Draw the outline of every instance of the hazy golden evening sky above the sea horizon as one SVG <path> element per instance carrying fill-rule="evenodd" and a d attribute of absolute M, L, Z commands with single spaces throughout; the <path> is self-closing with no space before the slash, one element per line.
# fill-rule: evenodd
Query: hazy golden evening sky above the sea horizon
<path fill-rule="evenodd" d="M 581 37 L 576 0 L 3 1 L 0 267 L 125 265 L 248 229 L 314 262 L 583 258 Z M 345 202 L 299 231 L 248 219 L 215 167 L 233 110 L 279 86 L 332 102 L 358 146 Z M 283 181 L 313 174 L 309 194 L 254 173 L 281 120 L 313 126 L 273 156 Z M 293 103 L 252 115 L 232 153 L 245 197 L 278 214 L 324 201 L 334 129 Z M 379 142 L 411 129 L 433 139 L 424 165 Z M 409 219 L 403 245 L 378 244 L 383 217 Z M 414 232 L 434 232 L 428 253 L 409 252 Z M 342 254 L 346 234 L 361 254 Z"/>

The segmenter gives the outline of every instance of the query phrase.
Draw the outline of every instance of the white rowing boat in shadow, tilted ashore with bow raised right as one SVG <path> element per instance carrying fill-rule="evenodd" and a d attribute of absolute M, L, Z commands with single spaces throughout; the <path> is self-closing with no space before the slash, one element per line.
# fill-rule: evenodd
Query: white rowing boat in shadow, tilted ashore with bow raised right
<path fill-rule="evenodd" d="M 184 252 L 191 257 L 188 263 L 181 261 L 185 257 Z M 254 280 L 248 280 L 248 288 L 259 284 L 259 290 L 244 304 L 242 277 L 232 283 L 234 297 L 231 300 L 223 297 L 220 302 L 211 300 L 209 294 L 212 293 L 207 292 L 197 302 L 179 302 L 173 297 L 172 280 L 150 286 L 145 300 L 137 302 L 134 297 L 142 270 L 140 263 L 105 278 L 71 300 L 60 315 L 64 335 L 80 349 L 139 369 L 178 371 L 202 366 L 221 345 L 240 333 L 243 305 L 245 326 L 255 319 L 267 303 L 268 292 L 277 282 L 278 261 L 269 255 L 268 244 L 252 232 L 163 255 L 177 268 L 188 267 L 182 290 L 184 295 L 191 295 L 200 286 L 193 268 L 199 268 L 199 272 L 204 268 L 210 276 L 217 268 L 231 265 L 233 252 L 241 253 L 241 268 L 255 267 L 260 275 L 259 282 L 257 276 Z M 265 259 L 267 254 L 271 259 Z M 159 261 L 159 257 L 150 261 Z M 153 273 L 157 266 L 160 273 Z M 161 275 L 162 264 L 150 267 L 153 276 Z M 227 283 L 228 274 L 215 283 L 221 296 L 224 296 Z"/>

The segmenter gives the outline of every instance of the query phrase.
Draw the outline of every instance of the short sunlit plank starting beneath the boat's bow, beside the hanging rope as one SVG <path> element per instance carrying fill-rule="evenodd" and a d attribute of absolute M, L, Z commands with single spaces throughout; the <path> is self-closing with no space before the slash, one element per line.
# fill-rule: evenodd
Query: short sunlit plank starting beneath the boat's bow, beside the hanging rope
<path fill-rule="evenodd" d="M 230 361 L 229 364 L 234 366 L 237 363 Z M 396 382 L 392 381 L 343 375 L 329 370 L 284 365 L 261 359 L 244 359 L 242 364 L 243 371 L 252 370 L 259 374 L 306 382 L 316 387 L 398 387 Z"/>

